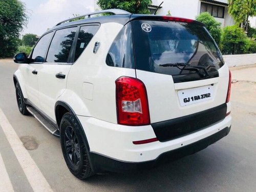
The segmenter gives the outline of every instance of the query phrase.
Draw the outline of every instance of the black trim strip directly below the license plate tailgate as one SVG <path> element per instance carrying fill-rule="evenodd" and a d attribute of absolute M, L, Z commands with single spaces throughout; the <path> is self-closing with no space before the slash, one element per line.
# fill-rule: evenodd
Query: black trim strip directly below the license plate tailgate
<path fill-rule="evenodd" d="M 152 123 L 153 130 L 160 142 L 183 137 L 187 134 L 205 129 L 226 117 L 227 104 L 221 104 L 202 112 L 175 119 Z"/>

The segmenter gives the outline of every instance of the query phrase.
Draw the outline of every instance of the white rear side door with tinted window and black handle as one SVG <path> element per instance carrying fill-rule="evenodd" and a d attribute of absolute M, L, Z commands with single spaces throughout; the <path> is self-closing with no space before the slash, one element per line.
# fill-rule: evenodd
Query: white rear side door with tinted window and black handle
<path fill-rule="evenodd" d="M 78 27 L 55 31 L 46 62 L 38 71 L 39 100 L 42 111 L 55 120 L 56 99 L 65 91 L 72 65 L 71 50 Z"/>

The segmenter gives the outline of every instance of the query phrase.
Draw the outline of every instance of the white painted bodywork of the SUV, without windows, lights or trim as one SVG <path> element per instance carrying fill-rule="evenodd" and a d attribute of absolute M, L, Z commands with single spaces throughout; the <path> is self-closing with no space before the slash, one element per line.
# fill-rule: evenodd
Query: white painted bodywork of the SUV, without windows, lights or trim
<path fill-rule="evenodd" d="M 115 80 L 121 76 L 140 79 L 146 87 L 151 123 L 186 116 L 214 108 L 225 103 L 229 72 L 227 65 L 219 70 L 218 78 L 200 81 L 174 83 L 172 76 L 134 69 L 110 67 L 105 58 L 113 40 L 122 29 L 121 24 L 101 24 L 98 32 L 73 65 L 24 64 L 15 75 L 26 98 L 37 108 L 56 120 L 54 106 L 63 101 L 77 115 L 87 136 L 91 152 L 127 162 L 142 162 L 156 159 L 164 152 L 194 143 L 231 125 L 228 115 L 221 122 L 205 129 L 167 142 L 152 142 L 135 145 L 133 141 L 155 138 L 151 125 L 125 126 L 117 124 Z M 96 41 L 101 42 L 96 54 Z M 31 71 L 38 76 L 33 79 Z M 39 74 L 40 73 L 40 74 Z M 56 73 L 66 75 L 55 78 Z M 30 75 L 31 74 L 31 75 Z M 29 82 L 33 80 L 33 82 Z M 30 86 L 30 83 L 33 83 Z M 178 91 L 214 84 L 214 98 L 211 100 L 181 106 Z M 34 85 L 34 87 L 33 87 Z M 227 103 L 227 113 L 230 103 Z"/>

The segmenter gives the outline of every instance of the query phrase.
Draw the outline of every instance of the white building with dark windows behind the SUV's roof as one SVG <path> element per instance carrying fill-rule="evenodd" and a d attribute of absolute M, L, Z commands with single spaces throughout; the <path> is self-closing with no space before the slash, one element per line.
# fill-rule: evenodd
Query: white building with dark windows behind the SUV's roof
<path fill-rule="evenodd" d="M 162 2 L 164 3 L 157 11 L 158 15 L 166 15 L 169 10 L 172 16 L 195 19 L 197 15 L 207 11 L 221 22 L 222 27 L 234 24 L 233 18 L 228 14 L 227 0 L 153 0 L 151 11 Z"/>

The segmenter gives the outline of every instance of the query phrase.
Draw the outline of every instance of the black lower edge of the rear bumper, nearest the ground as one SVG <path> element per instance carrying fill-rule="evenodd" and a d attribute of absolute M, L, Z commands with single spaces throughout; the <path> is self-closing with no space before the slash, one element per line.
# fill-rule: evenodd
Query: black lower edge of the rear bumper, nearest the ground
<path fill-rule="evenodd" d="M 220 140 L 221 138 L 228 135 L 230 132 L 230 127 L 225 127 L 223 130 L 201 139 L 195 143 L 191 143 L 189 145 L 177 148 L 176 150 L 165 152 L 161 154 L 157 159 L 152 161 L 144 161 L 144 162 L 124 162 L 116 159 L 112 159 L 110 157 L 106 157 L 103 155 L 99 155 L 93 152 L 90 152 L 91 162 L 93 164 L 94 172 L 101 173 L 104 171 L 116 172 L 116 173 L 129 173 L 133 172 L 134 170 L 140 169 L 148 169 L 155 167 L 157 165 L 174 161 L 185 157 L 187 155 L 192 155 L 197 153 L 210 144 L 215 143 L 216 141 Z"/>

